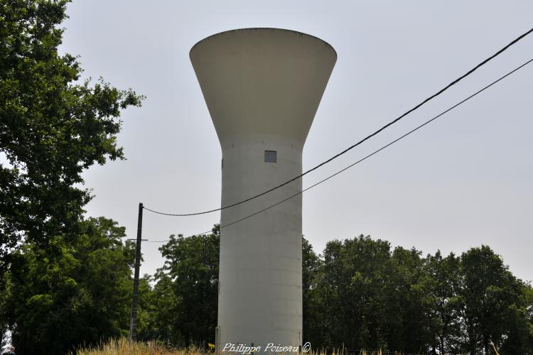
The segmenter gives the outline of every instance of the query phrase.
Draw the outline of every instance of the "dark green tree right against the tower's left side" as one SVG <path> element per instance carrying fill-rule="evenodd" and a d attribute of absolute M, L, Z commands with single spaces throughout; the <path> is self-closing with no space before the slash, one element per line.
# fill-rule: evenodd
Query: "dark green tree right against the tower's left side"
<path fill-rule="evenodd" d="M 172 281 L 176 306 L 174 327 L 183 336 L 185 346 L 215 341 L 218 305 L 218 263 L 220 226 L 211 234 L 171 236 L 159 249 L 166 258 L 163 271 Z M 160 276 L 161 282 L 168 279 Z M 163 287 L 164 289 L 164 287 Z"/>

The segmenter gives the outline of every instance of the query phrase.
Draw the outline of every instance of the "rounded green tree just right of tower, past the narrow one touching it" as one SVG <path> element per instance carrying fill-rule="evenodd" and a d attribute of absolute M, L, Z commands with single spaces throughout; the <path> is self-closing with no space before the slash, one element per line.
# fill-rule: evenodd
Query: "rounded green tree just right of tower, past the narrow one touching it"
<path fill-rule="evenodd" d="M 325 336 L 318 347 L 378 349 L 382 337 L 382 288 L 390 258 L 387 241 L 359 236 L 326 244 L 318 283 Z"/>

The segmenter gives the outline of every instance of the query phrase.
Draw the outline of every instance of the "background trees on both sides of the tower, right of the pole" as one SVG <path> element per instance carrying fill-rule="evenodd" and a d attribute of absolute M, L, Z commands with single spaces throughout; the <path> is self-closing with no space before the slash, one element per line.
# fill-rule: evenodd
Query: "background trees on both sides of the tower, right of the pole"
<path fill-rule="evenodd" d="M 141 289 L 139 336 L 214 342 L 219 230 L 171 236 Z M 252 297 L 252 296 L 251 296 Z M 315 349 L 533 354 L 533 290 L 488 246 L 461 256 L 359 236 L 323 256 L 303 240 L 303 340 Z"/>

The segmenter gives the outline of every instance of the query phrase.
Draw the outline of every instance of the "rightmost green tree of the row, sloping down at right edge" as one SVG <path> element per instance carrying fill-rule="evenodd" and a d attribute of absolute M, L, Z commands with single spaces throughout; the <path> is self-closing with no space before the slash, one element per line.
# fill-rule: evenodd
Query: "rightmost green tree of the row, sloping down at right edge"
<path fill-rule="evenodd" d="M 461 255 L 465 327 L 464 351 L 488 354 L 492 344 L 502 354 L 533 354 L 527 321 L 527 285 L 517 280 L 488 246 Z"/>

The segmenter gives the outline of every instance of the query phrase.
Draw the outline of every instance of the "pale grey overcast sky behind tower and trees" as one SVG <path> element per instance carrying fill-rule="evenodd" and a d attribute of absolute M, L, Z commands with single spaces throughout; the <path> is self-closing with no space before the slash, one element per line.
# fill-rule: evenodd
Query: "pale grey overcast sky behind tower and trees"
<path fill-rule="evenodd" d="M 84 174 L 105 216 L 136 236 L 137 207 L 220 207 L 221 151 L 188 53 L 235 28 L 301 31 L 338 61 L 303 150 L 303 169 L 342 151 L 533 27 L 532 1 L 74 0 L 61 50 L 85 75 L 147 99 L 124 111 L 126 161 Z M 307 175 L 321 180 L 533 58 L 533 34 L 363 146 Z M 332 239 L 370 234 L 426 253 L 487 244 L 533 279 L 533 64 L 404 141 L 303 195 L 303 234 L 321 253 Z M 220 220 L 144 212 L 143 237 L 198 234 Z M 163 265 L 144 243 L 141 274 Z"/>

